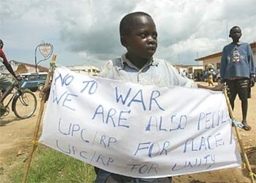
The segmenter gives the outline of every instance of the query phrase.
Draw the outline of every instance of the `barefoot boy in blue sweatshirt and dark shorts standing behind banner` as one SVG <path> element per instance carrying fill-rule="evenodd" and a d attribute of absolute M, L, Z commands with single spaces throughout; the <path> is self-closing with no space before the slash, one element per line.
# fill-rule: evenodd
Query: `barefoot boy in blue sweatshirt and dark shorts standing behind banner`
<path fill-rule="evenodd" d="M 248 43 L 241 43 L 241 28 L 234 26 L 229 31 L 229 37 L 233 42 L 224 46 L 221 56 L 221 82 L 226 82 L 230 90 L 229 101 L 234 109 L 236 95 L 242 103 L 242 124 L 244 130 L 250 130 L 247 124 L 248 100 L 250 98 L 250 87 L 254 87 L 255 66 L 252 49 Z"/>

